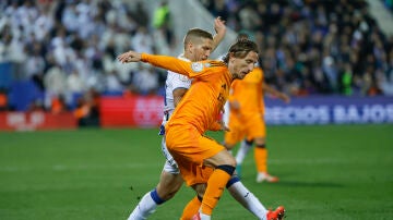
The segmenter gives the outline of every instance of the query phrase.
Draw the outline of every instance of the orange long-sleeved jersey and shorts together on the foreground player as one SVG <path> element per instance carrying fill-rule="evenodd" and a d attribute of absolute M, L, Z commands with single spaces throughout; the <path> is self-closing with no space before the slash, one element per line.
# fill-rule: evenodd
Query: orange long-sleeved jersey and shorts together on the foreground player
<path fill-rule="evenodd" d="M 206 183 L 212 169 L 201 166 L 203 160 L 225 148 L 202 134 L 207 130 L 221 129 L 217 118 L 229 95 L 231 83 L 227 66 L 217 61 L 190 63 L 145 53 L 142 60 L 193 80 L 166 124 L 165 139 L 187 185 Z"/>

